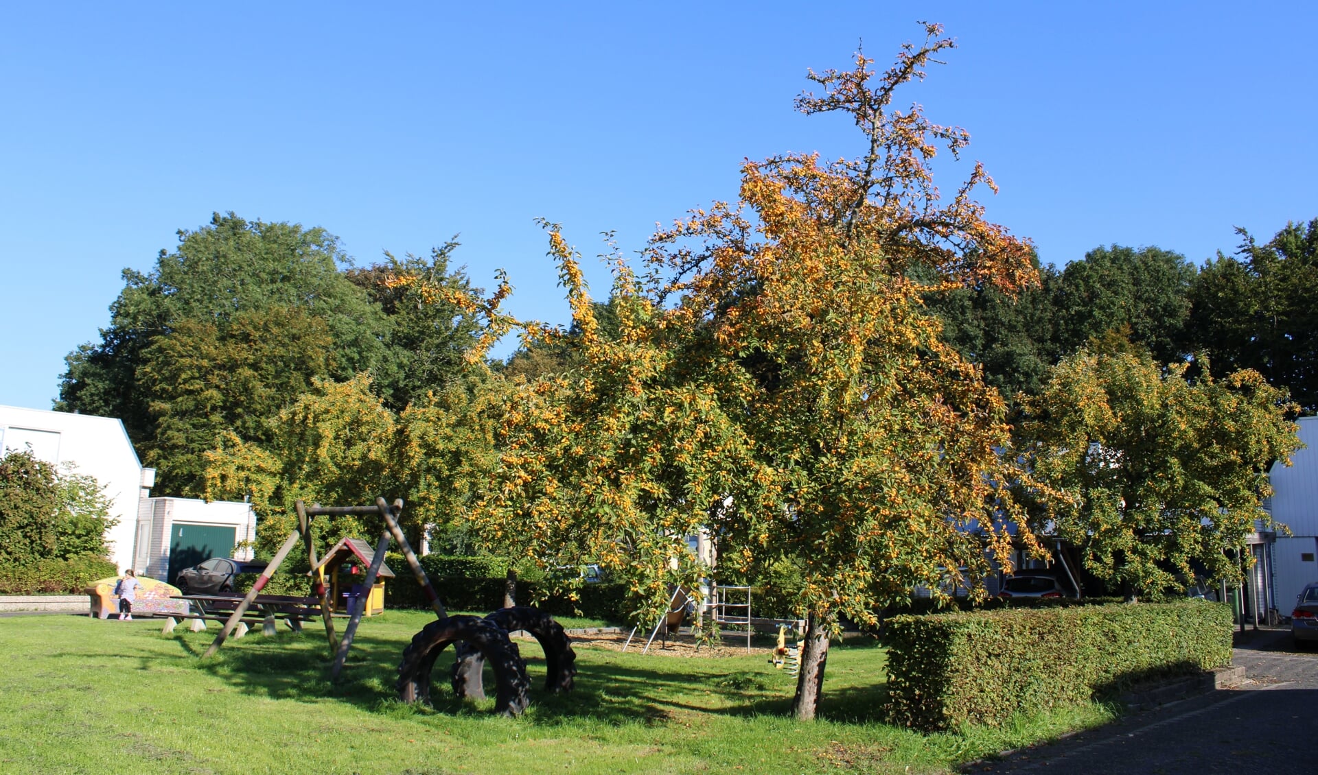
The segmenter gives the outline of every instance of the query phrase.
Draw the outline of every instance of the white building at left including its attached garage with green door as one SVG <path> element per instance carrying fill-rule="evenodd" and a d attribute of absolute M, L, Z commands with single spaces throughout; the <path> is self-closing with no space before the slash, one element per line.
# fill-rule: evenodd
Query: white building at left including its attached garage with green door
<path fill-rule="evenodd" d="M 116 418 L 0 405 L 0 454 L 28 447 L 46 462 L 72 464 L 75 472 L 100 483 L 109 513 L 119 520 L 105 542 L 120 570 L 132 567 L 167 579 L 170 571 L 210 557 L 250 557 L 249 545 L 241 542 L 256 537 L 252 507 L 150 497 L 156 470 L 142 468 Z"/>

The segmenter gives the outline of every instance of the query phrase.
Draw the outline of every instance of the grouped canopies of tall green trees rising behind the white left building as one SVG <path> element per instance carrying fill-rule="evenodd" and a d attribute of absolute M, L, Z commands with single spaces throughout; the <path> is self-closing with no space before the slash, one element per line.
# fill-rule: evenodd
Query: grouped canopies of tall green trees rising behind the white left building
<path fill-rule="evenodd" d="M 216 213 L 178 237 L 150 274 L 124 272 L 100 343 L 66 358 L 55 407 L 124 420 L 161 493 L 200 496 L 204 453 L 225 433 L 270 442 L 316 379 L 370 374 L 401 411 L 443 389 L 474 342 L 469 316 L 406 282 L 469 289 L 448 264 L 455 242 L 355 268 L 320 228 Z"/>

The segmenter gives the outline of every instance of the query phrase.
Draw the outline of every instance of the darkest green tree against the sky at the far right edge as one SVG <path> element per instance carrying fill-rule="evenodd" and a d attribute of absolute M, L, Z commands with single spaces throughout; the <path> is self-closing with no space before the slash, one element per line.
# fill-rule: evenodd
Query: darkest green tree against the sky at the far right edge
<path fill-rule="evenodd" d="M 1218 254 L 1190 291 L 1190 339 L 1219 370 L 1253 368 L 1318 411 L 1318 218 L 1264 245 L 1244 229 L 1236 258 Z"/>

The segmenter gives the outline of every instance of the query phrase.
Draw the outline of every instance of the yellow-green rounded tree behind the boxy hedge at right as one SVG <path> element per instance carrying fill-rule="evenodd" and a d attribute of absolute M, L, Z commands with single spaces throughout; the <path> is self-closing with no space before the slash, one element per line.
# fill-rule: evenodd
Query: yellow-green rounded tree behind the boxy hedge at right
<path fill-rule="evenodd" d="M 1020 451 L 1037 482 L 1068 497 L 1041 504 L 1086 568 L 1128 596 L 1193 578 L 1231 580 L 1271 492 L 1268 467 L 1300 442 L 1293 405 L 1256 371 L 1186 379 L 1115 338 L 1052 368 L 1025 401 Z"/>

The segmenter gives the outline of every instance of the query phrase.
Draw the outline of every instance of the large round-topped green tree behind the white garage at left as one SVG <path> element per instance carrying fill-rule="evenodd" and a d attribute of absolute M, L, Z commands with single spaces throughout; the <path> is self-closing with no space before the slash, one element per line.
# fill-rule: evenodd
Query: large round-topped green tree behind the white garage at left
<path fill-rule="evenodd" d="M 332 351 L 332 357 L 319 357 L 324 370 L 302 379 L 347 379 L 382 358 L 387 320 L 339 271 L 345 261 L 337 238 L 319 228 L 216 213 L 208 226 L 179 232 L 175 251 L 161 251 L 150 274 L 125 270 L 127 286 L 111 307 L 111 326 L 101 332 L 101 342 L 83 345 L 66 358 L 69 370 L 55 408 L 121 418 L 141 455 L 162 466 L 158 488 L 196 495 L 196 455 L 214 446 L 212 430 L 224 414 L 215 407 L 243 407 L 244 389 L 269 393 L 268 388 L 282 387 L 278 380 L 270 386 L 227 380 L 220 371 L 244 355 L 223 353 L 224 345 L 243 345 L 253 326 L 266 325 L 272 333 L 269 326 L 281 314 L 290 321 L 289 316 L 301 314 L 319 321 L 315 325 L 328 334 Z M 298 328 L 293 338 L 307 334 L 306 328 Z M 170 343 L 175 336 L 183 341 Z M 185 366 L 167 362 L 194 343 L 219 347 L 208 347 L 215 355 L 210 366 L 198 358 Z M 289 353 L 279 361 L 299 358 L 303 354 Z M 207 370 L 215 374 L 200 374 Z M 174 376 L 192 379 L 178 387 Z M 208 383 L 204 388 L 203 382 Z M 191 397 L 185 396 L 188 391 Z M 286 395 L 283 401 L 295 397 Z M 173 461 L 157 455 L 165 449 L 185 458 L 177 466 L 178 478 Z"/>

